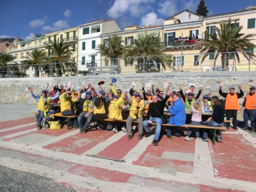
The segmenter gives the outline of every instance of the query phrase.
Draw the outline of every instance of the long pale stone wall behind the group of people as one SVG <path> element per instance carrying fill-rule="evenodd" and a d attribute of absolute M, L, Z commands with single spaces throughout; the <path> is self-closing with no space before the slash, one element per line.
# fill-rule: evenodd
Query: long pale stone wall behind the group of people
<path fill-rule="evenodd" d="M 28 91 L 28 87 L 33 88 L 35 94 L 40 94 L 45 89 L 47 82 L 49 90 L 57 82 L 67 85 L 72 83 L 73 88 L 78 90 L 80 86 L 91 83 L 98 90 L 98 81 L 105 80 L 103 88 L 109 90 L 109 82 L 113 77 L 117 79 L 114 84 L 116 88 L 123 91 L 129 91 L 132 85 L 135 90 L 141 92 L 141 84 L 145 84 L 145 90 L 151 90 L 151 84 L 155 84 L 155 89 L 159 88 L 166 92 L 168 82 L 172 82 L 170 91 L 178 91 L 179 86 L 183 87 L 184 92 L 189 89 L 191 84 L 196 87 L 195 93 L 199 87 L 203 87 L 203 94 L 212 93 L 219 95 L 219 86 L 223 85 L 223 91 L 227 92 L 229 86 L 234 85 L 236 91 L 239 91 L 237 84 L 242 85 L 242 90 L 246 93 L 250 86 L 255 86 L 255 71 L 246 72 L 176 72 L 176 73 L 140 73 L 140 74 L 116 74 L 116 75 L 93 75 L 93 76 L 72 76 L 72 77 L 45 77 L 45 78 L 1 78 L 0 79 L 0 103 L 23 103 L 28 105 L 36 104 Z M 240 99 L 240 103 L 243 99 Z"/>

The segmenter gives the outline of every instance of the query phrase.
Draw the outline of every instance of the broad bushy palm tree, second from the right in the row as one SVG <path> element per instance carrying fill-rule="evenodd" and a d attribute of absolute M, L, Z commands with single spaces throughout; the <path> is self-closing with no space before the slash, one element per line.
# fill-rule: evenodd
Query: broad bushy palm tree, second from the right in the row
<path fill-rule="evenodd" d="M 154 35 L 147 32 L 139 34 L 133 44 L 126 47 L 123 54 L 124 57 L 136 57 L 143 72 L 148 71 L 150 65 L 157 66 L 158 70 L 162 65 L 166 70 L 166 66 L 170 67 L 172 61 L 170 56 L 164 55 L 164 46 L 157 38 L 154 38 Z"/>

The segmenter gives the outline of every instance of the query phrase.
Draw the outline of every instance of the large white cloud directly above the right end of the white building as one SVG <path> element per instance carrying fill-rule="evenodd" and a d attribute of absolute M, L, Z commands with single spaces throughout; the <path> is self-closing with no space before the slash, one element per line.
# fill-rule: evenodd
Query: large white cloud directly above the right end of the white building
<path fill-rule="evenodd" d="M 138 16 L 149 9 L 150 4 L 154 2 L 155 0 L 115 0 L 107 14 L 115 19 L 127 12 L 130 12 L 132 16 Z"/>

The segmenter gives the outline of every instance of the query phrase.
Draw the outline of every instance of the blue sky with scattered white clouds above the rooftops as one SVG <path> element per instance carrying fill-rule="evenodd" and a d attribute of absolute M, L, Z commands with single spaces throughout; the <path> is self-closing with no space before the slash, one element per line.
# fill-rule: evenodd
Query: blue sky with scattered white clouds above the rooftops
<path fill-rule="evenodd" d="M 163 25 L 184 9 L 196 12 L 200 0 L 3 0 L 0 1 L 0 38 L 33 38 L 34 34 L 76 27 L 89 21 L 114 18 L 124 26 Z M 230 3 L 231 2 L 231 3 Z M 255 0 L 205 0 L 212 14 L 256 6 Z M 208 12 L 209 14 L 209 12 Z"/>

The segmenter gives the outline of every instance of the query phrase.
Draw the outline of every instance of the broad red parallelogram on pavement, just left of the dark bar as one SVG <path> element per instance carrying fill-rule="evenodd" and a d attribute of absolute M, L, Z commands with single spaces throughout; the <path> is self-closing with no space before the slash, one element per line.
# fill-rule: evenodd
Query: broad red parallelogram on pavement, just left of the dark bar
<path fill-rule="evenodd" d="M 74 136 L 70 136 L 55 143 L 46 145 L 43 148 L 47 148 L 53 151 L 80 155 L 90 150 L 90 148 L 94 147 L 98 143 L 105 141 L 113 134 L 114 133 L 92 130 L 87 132 L 86 134 L 78 133 Z"/>

